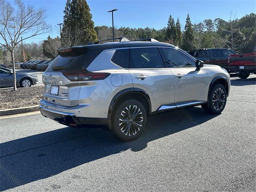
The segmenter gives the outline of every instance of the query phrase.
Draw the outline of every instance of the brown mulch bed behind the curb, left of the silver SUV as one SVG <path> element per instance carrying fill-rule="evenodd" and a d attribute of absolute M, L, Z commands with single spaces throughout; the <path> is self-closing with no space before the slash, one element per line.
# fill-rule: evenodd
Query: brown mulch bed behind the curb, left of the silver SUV
<path fill-rule="evenodd" d="M 39 105 L 44 86 L 0 90 L 0 110 Z"/>

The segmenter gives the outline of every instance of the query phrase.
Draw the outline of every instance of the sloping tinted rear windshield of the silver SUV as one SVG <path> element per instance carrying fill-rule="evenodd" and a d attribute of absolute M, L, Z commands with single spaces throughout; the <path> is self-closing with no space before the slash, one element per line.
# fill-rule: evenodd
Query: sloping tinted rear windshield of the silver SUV
<path fill-rule="evenodd" d="M 67 72 L 86 69 L 100 52 L 102 52 L 102 49 L 99 48 L 72 48 L 68 52 L 59 53 L 46 72 Z"/>

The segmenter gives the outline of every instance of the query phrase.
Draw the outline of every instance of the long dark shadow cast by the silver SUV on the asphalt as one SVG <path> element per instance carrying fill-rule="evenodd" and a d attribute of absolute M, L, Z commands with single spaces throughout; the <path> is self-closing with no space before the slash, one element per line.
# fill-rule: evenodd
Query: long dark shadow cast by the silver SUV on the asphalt
<path fill-rule="evenodd" d="M 125 150 L 143 150 L 148 142 L 193 128 L 215 117 L 200 107 L 154 115 L 148 118 L 147 128 L 140 138 L 126 143 L 102 129 L 70 127 L 2 143 L 0 190 L 48 178 Z"/>

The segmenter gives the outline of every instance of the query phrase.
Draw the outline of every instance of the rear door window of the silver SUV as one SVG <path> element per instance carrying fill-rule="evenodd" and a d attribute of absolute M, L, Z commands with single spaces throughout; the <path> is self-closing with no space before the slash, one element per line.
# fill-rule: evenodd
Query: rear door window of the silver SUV
<path fill-rule="evenodd" d="M 158 48 L 131 48 L 130 68 L 164 68 Z"/>

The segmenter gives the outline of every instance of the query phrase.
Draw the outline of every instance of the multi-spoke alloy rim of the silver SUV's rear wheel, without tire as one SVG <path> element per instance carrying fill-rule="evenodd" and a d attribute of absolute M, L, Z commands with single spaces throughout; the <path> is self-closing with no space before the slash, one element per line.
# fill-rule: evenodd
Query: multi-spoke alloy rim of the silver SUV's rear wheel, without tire
<path fill-rule="evenodd" d="M 142 111 L 136 105 L 127 106 L 120 114 L 119 126 L 120 130 L 126 136 L 136 135 L 142 126 Z"/>

